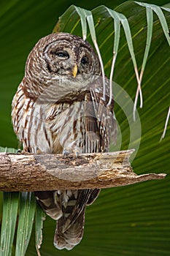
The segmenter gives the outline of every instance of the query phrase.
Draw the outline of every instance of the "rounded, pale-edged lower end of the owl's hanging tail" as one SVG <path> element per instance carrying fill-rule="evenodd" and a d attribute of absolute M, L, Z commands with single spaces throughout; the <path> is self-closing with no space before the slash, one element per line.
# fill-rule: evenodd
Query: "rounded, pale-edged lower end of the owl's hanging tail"
<path fill-rule="evenodd" d="M 84 232 L 85 223 L 85 208 L 81 211 L 79 217 L 67 226 L 67 220 L 61 217 L 57 221 L 54 245 L 58 249 L 72 249 L 74 246 L 80 243 Z"/>

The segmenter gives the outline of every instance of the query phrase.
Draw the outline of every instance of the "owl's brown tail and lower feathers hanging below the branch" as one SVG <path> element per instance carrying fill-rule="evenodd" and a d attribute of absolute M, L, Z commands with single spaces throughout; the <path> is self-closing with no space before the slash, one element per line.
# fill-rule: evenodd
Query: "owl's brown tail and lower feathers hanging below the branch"
<path fill-rule="evenodd" d="M 72 249 L 82 240 L 85 207 L 93 203 L 100 189 L 56 190 L 35 192 L 40 206 L 57 220 L 54 245 L 58 249 Z"/>

